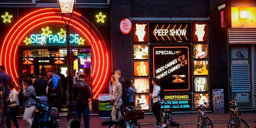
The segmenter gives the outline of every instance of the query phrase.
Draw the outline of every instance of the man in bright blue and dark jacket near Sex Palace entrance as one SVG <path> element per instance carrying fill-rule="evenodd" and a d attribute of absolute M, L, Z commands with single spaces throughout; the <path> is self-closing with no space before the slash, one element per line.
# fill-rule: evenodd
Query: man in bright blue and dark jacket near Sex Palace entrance
<path fill-rule="evenodd" d="M 56 74 L 55 70 L 50 71 L 50 75 L 52 79 L 50 80 L 50 104 L 53 104 L 54 107 L 58 109 L 58 116 L 57 121 L 60 121 L 59 114 L 60 114 L 60 107 L 59 107 L 59 98 L 61 93 L 61 83 L 60 83 L 60 76 Z M 55 102 L 54 102 L 55 101 Z"/>

